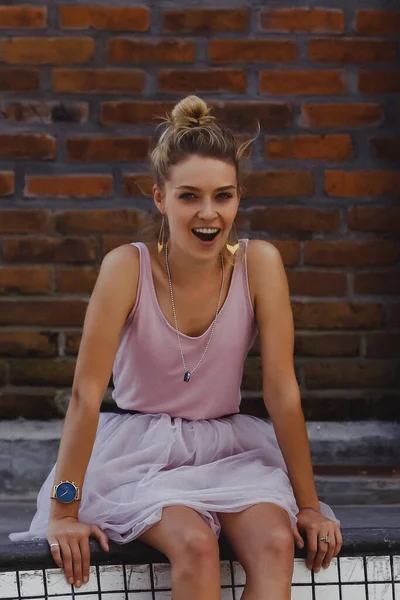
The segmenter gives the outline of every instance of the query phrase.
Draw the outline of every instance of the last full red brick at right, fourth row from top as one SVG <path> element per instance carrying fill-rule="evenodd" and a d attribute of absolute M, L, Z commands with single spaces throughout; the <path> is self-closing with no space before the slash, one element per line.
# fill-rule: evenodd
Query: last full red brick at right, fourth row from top
<path fill-rule="evenodd" d="M 303 127 L 365 127 L 382 122 L 384 111 L 379 104 L 303 104 L 300 125 Z"/>

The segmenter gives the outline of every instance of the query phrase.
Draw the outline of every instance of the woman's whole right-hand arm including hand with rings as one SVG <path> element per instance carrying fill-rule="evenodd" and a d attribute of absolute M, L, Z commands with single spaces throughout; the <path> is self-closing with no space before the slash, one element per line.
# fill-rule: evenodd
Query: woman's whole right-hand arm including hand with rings
<path fill-rule="evenodd" d="M 278 250 L 268 242 L 251 244 L 249 277 L 255 285 L 255 312 L 262 354 L 263 393 L 288 470 L 299 513 L 293 534 L 303 548 L 307 537 L 309 569 L 327 568 L 340 552 L 337 523 L 319 512 L 310 448 L 294 366 L 294 326 L 285 269 Z M 312 510 L 307 510 L 307 509 Z M 322 541 L 325 536 L 329 542 Z M 321 539 L 322 538 L 322 539 Z"/>

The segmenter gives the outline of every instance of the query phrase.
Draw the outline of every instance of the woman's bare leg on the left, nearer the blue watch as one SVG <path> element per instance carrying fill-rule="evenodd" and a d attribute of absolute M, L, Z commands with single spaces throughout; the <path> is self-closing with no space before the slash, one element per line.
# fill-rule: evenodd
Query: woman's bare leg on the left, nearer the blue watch
<path fill-rule="evenodd" d="M 220 600 L 218 540 L 195 510 L 167 506 L 162 519 L 139 539 L 167 556 L 172 600 Z"/>

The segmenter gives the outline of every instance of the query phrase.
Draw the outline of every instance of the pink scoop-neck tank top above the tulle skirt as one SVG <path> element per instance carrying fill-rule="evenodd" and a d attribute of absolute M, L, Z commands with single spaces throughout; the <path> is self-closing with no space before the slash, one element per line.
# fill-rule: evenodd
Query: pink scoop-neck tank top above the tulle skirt
<path fill-rule="evenodd" d="M 149 251 L 144 243 L 134 242 L 140 252 L 140 274 L 136 302 L 123 326 L 113 366 L 112 397 L 117 406 L 189 420 L 239 412 L 244 361 L 257 335 L 247 277 L 248 239 L 239 242 L 238 256 L 243 252 L 244 258 L 233 268 L 213 338 L 189 382 L 183 381 L 176 330 L 158 304 Z M 199 337 L 181 334 L 189 370 L 198 363 L 210 332 L 211 325 Z"/>

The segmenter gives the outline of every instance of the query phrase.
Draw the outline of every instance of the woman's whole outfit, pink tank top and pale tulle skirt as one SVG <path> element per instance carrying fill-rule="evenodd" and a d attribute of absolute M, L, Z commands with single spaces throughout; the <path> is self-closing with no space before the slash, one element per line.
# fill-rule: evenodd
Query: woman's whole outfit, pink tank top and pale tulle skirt
<path fill-rule="evenodd" d="M 247 242 L 240 241 L 238 252 L 246 252 Z M 158 522 L 164 507 L 182 504 L 197 511 L 217 537 L 219 513 L 261 502 L 282 507 L 294 526 L 298 507 L 273 426 L 235 414 L 243 364 L 257 333 L 245 257 L 234 266 L 208 351 L 186 383 L 176 331 L 156 298 L 149 252 L 145 244 L 135 245 L 137 298 L 121 331 L 113 397 L 136 414 L 100 413 L 79 519 L 96 523 L 120 544 Z M 209 333 L 182 335 L 189 369 Z M 45 538 L 55 470 L 56 465 L 38 494 L 29 531 L 10 534 L 12 540 Z M 320 504 L 323 514 L 337 520 Z"/>

